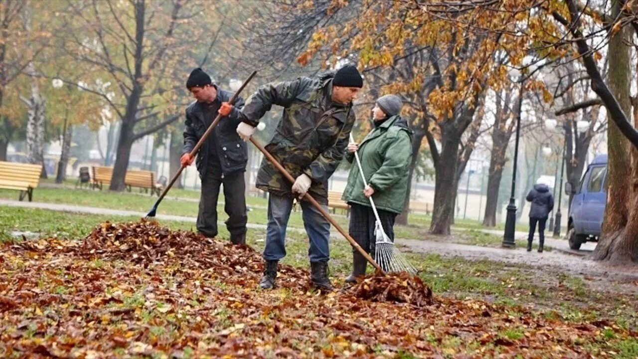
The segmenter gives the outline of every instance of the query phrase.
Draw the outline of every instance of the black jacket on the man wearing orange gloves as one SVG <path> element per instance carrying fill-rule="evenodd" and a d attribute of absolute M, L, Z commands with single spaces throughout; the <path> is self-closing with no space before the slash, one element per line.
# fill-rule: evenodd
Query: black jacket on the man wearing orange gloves
<path fill-rule="evenodd" d="M 216 109 L 219 109 L 222 102 L 228 102 L 232 97 L 232 93 L 223 89 L 217 88 L 217 98 L 213 102 L 216 105 Z M 184 153 L 189 153 L 195 148 L 195 144 L 206 132 L 207 124 L 212 123 L 214 118 L 204 119 L 204 106 L 205 103 L 193 102 L 186 107 L 186 129 L 184 130 Z M 215 136 L 214 143 L 217 145 L 218 162 L 221 164 L 221 172 L 226 175 L 236 171 L 246 171 L 246 163 L 248 162 L 248 146 L 246 142 L 237 134 L 237 125 L 241 122 L 239 114 L 244 107 L 244 100 L 238 97 L 234 103 L 232 112 L 225 118 L 219 120 L 219 123 L 215 130 L 211 133 L 211 136 Z M 214 111 L 217 116 L 217 110 Z M 211 145 L 210 139 L 204 142 L 204 145 L 197 153 L 197 171 L 200 173 L 200 178 L 206 173 L 207 166 L 211 164 L 209 157 L 209 147 Z"/>

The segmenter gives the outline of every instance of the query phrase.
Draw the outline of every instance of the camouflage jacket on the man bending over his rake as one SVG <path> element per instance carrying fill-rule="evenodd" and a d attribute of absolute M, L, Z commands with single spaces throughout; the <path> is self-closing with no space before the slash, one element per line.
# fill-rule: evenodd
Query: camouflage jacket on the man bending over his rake
<path fill-rule="evenodd" d="M 242 121 L 256 126 L 272 105 L 283 115 L 265 146 L 293 178 L 302 173 L 312 179 L 309 193 L 328 202 L 327 182 L 343 158 L 355 122 L 350 105 L 332 102 L 332 73 L 316 79 L 300 77 L 290 82 L 261 86 L 242 109 Z M 256 187 L 277 195 L 292 195 L 290 183 L 267 158 L 263 158 Z"/>

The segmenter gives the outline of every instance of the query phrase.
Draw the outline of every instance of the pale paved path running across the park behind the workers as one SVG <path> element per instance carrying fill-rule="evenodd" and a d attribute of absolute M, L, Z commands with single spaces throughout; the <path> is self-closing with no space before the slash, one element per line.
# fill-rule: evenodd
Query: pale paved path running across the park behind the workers
<path fill-rule="evenodd" d="M 137 211 L 112 210 L 107 208 L 94 208 L 85 206 L 73 206 L 69 204 L 43 203 L 43 202 L 21 202 L 7 199 L 0 199 L 0 206 L 13 206 L 22 208 L 39 208 L 43 210 L 64 211 L 71 213 L 89 213 L 94 215 L 105 216 L 131 216 L 145 217 L 147 213 Z M 195 223 L 195 217 L 185 217 L 176 215 L 156 216 L 159 220 L 175 220 L 181 222 Z M 221 222 L 221 221 L 220 221 Z M 248 224 L 249 228 L 261 229 L 265 231 L 266 226 L 263 224 Z M 305 233 L 303 228 L 288 227 L 291 231 Z M 486 229 L 487 233 L 501 234 L 500 231 Z M 334 231 L 331 233 L 333 238 L 341 238 L 341 234 Z M 460 243 L 450 243 L 450 241 L 434 241 L 434 240 L 413 240 L 406 238 L 397 238 L 396 243 L 404 245 L 409 250 L 419 253 L 437 253 L 441 256 L 464 257 L 466 259 L 489 259 L 491 261 L 500 261 L 510 264 L 528 264 L 537 268 L 553 268 L 555 270 L 566 271 L 572 274 L 606 276 L 612 274 L 618 279 L 638 280 L 638 266 L 607 266 L 604 263 L 589 261 L 582 256 L 570 256 L 559 250 L 551 252 L 538 253 L 536 251 L 527 252 L 526 247 L 527 234 L 523 232 L 516 233 L 517 247 L 514 249 L 498 248 L 498 247 L 479 247 L 475 245 L 464 245 Z M 567 248 L 567 241 L 556 240 L 554 238 L 545 239 L 545 243 L 553 248 Z M 593 250 L 595 243 L 586 243 L 584 248 Z M 407 251 L 409 251 L 407 250 Z"/>

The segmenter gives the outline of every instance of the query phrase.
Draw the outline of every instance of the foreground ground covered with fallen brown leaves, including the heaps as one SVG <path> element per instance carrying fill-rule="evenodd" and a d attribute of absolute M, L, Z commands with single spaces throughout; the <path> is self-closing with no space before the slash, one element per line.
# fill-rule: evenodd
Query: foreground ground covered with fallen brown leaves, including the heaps
<path fill-rule="evenodd" d="M 281 266 L 279 289 L 261 291 L 262 259 L 250 247 L 153 222 L 107 222 L 80 241 L 5 243 L 0 268 L 8 358 L 588 358 L 615 357 L 605 340 L 638 335 L 432 298 L 403 276 L 325 294 L 307 271 Z M 373 301 L 393 298 L 401 302 Z"/>

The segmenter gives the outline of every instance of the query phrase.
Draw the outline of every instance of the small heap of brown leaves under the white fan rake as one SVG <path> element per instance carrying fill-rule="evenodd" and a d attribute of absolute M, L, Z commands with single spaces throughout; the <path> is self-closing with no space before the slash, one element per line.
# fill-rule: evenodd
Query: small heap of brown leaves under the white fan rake
<path fill-rule="evenodd" d="M 408 273 L 372 275 L 361 279 L 350 289 L 357 298 L 374 302 L 400 302 L 422 307 L 433 303 L 432 289 Z"/>

